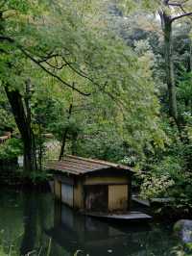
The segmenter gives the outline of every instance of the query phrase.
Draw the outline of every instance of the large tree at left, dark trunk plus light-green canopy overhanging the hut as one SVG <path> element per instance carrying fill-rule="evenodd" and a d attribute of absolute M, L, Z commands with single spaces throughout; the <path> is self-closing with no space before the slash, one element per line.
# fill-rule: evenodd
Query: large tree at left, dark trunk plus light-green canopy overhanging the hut
<path fill-rule="evenodd" d="M 121 141 L 138 155 L 143 155 L 144 148 L 163 148 L 166 140 L 148 56 L 140 58 L 109 29 L 108 1 L 87 2 L 84 6 L 80 1 L 48 5 L 47 1 L 10 0 L 1 8 L 1 87 L 28 164 L 31 156 L 36 158 L 36 143 L 42 145 L 36 133 L 55 131 L 60 139 L 67 125 L 73 130 L 66 135 L 73 148 L 83 131 L 81 138 L 87 138 L 86 131 L 95 133 L 95 122 L 101 129 L 106 124 L 118 131 Z M 72 101 L 90 106 L 91 111 L 83 110 L 66 121 L 65 110 Z M 52 111 L 55 116 L 49 114 Z"/>

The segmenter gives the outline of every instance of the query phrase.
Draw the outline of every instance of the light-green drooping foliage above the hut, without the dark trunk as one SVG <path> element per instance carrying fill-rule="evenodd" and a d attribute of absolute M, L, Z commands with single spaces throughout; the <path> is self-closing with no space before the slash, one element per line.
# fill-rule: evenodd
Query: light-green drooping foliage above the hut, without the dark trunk
<path fill-rule="evenodd" d="M 58 4 L 54 4 L 54 9 L 44 4 L 44 1 L 40 3 L 37 10 L 41 10 L 45 18 L 36 17 L 33 13 L 35 7 L 31 8 L 30 4 L 28 10 L 31 13 L 28 13 L 26 7 L 22 8 L 21 5 L 20 16 L 12 16 L 12 22 L 9 18 L 5 18 L 5 32 L 9 32 L 16 44 L 10 45 L 6 42 L 2 45 L 2 47 L 11 47 L 8 50 L 9 54 L 4 54 L 2 57 L 2 66 L 8 62 L 12 63 L 9 72 L 8 66 L 2 70 L 4 83 L 9 83 L 11 90 L 12 87 L 18 89 L 22 95 L 24 95 L 23 85 L 29 76 L 35 84 L 35 93 L 31 99 L 35 129 L 36 122 L 40 122 L 43 131 L 52 131 L 57 138 L 61 138 L 62 131 L 68 127 L 69 134 L 71 133 L 71 138 L 73 138 L 75 134 L 82 134 L 84 130 L 84 125 L 80 125 L 82 120 L 86 125 L 92 125 L 96 119 L 94 112 L 98 111 L 93 106 L 99 106 L 97 128 L 102 122 L 115 125 L 114 130 L 118 131 L 120 140 L 125 141 L 137 151 L 140 158 L 143 157 L 146 147 L 151 151 L 154 146 L 163 147 L 165 135 L 160 128 L 157 116 L 159 106 L 155 95 L 151 64 L 146 64 L 152 57 L 148 54 L 138 56 L 138 53 L 133 52 L 121 38 L 116 37 L 112 31 L 107 29 L 105 24 L 108 18 L 102 13 L 106 6 L 101 6 L 99 2 L 97 7 L 100 6 L 100 9 L 96 9 L 98 13 L 89 23 L 89 14 L 95 6 L 92 2 L 86 3 L 88 4 L 84 9 L 86 14 L 81 13 L 79 2 L 65 3 L 65 6 L 59 1 Z M 99 26 L 97 25 L 98 18 L 101 18 Z M 40 25 L 41 22 L 43 26 Z M 55 26 L 56 23 L 57 26 Z M 81 116 L 72 116 L 70 120 L 67 120 L 64 112 L 58 115 L 57 105 L 59 104 L 57 102 L 61 101 L 62 94 L 66 95 L 65 103 L 70 103 L 72 98 L 66 89 L 66 84 L 61 83 L 63 90 L 60 90 L 57 79 L 51 79 L 39 66 L 29 60 L 26 61 L 18 44 L 22 45 L 25 51 L 36 60 L 39 60 L 40 56 L 49 55 L 50 52 L 58 55 L 57 59 L 51 58 L 42 63 L 43 67 L 59 76 L 65 83 L 74 84 L 75 88 L 90 92 L 91 99 L 84 100 L 74 92 L 74 101 L 77 103 L 75 105 L 82 104 L 82 102 L 91 104 L 93 111 L 88 115 L 84 112 Z M 57 65 L 59 67 L 63 65 L 63 68 L 53 67 Z M 56 92 L 56 87 L 60 93 Z M 47 88 L 50 89 L 47 90 Z M 60 105 L 61 108 L 65 108 L 68 104 L 63 104 L 62 101 Z M 104 129 L 105 132 L 106 129 Z M 115 135 L 116 138 L 118 136 Z M 92 135 L 90 134 L 89 137 Z M 111 139 L 108 141 L 111 143 Z M 108 153 L 106 151 L 105 155 L 107 154 L 111 154 L 109 150 Z M 101 156 L 101 154 L 98 155 Z M 122 158 L 121 154 L 120 159 Z"/>

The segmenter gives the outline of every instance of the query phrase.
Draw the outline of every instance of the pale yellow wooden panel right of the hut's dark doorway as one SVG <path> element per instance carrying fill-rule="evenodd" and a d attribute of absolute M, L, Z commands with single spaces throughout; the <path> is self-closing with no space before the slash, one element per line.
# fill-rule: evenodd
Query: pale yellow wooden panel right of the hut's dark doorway
<path fill-rule="evenodd" d="M 128 209 L 128 185 L 108 186 L 108 210 L 126 211 Z"/>

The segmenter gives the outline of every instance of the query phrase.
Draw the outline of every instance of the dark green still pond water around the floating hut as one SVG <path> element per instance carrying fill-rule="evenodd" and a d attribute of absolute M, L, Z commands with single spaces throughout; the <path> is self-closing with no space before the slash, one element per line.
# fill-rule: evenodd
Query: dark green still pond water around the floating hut
<path fill-rule="evenodd" d="M 169 256 L 177 245 L 167 223 L 111 225 L 56 204 L 49 192 L 0 191 L 0 256 Z"/>

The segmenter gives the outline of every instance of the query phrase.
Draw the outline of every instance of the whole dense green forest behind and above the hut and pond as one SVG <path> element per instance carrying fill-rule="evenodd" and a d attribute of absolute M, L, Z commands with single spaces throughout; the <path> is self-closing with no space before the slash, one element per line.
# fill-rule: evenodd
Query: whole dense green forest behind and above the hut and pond
<path fill-rule="evenodd" d="M 119 162 L 190 211 L 192 4 L 156 2 L 0 2 L 1 163 Z"/>

